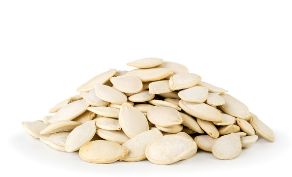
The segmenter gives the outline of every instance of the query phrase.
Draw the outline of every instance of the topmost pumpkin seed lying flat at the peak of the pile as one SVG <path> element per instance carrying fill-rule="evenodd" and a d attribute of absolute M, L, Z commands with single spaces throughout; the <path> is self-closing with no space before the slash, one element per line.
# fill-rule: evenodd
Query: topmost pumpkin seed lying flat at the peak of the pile
<path fill-rule="evenodd" d="M 163 63 L 163 59 L 159 58 L 145 58 L 138 59 L 132 62 L 128 62 L 127 65 L 137 67 L 137 68 L 152 68 Z"/>

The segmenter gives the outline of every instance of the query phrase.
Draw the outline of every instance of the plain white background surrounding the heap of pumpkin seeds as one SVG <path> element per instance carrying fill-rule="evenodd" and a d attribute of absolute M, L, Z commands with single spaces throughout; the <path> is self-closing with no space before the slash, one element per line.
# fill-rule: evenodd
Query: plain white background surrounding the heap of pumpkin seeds
<path fill-rule="evenodd" d="M 4 176 L 288 175 L 291 166 L 290 0 L 1 0 L 1 174 Z M 160 166 L 91 164 L 29 137 L 22 121 L 108 68 L 146 57 L 185 64 L 229 90 L 275 133 L 233 160 L 199 150 Z M 185 175 L 184 175 L 185 176 Z"/>

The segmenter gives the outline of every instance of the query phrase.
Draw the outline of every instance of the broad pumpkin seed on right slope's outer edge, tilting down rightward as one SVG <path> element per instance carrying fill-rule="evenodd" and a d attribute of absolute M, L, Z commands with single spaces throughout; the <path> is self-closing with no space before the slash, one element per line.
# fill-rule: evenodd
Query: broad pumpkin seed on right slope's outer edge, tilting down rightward
<path fill-rule="evenodd" d="M 245 104 L 226 93 L 222 93 L 220 96 L 225 100 L 225 104 L 219 106 L 222 111 L 237 118 L 249 117 L 249 111 Z"/>

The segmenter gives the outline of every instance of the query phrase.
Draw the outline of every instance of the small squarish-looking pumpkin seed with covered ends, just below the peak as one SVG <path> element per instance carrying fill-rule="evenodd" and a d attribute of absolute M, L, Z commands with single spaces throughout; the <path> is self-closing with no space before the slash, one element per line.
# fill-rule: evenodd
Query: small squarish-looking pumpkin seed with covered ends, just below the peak
<path fill-rule="evenodd" d="M 160 94 L 172 92 L 169 89 L 169 80 L 156 81 L 149 84 L 149 93 Z"/>

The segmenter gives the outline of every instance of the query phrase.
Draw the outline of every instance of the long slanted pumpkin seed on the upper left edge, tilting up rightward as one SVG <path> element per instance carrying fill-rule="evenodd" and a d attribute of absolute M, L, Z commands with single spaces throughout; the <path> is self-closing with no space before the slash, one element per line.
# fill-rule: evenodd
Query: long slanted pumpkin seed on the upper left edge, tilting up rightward
<path fill-rule="evenodd" d="M 96 84 L 105 84 L 106 81 L 108 81 L 112 76 L 114 76 L 116 72 L 117 72 L 116 69 L 109 69 L 108 71 L 101 73 L 95 76 L 94 78 L 90 79 L 86 83 L 84 83 L 77 89 L 77 91 L 87 92 L 94 89 Z"/>

